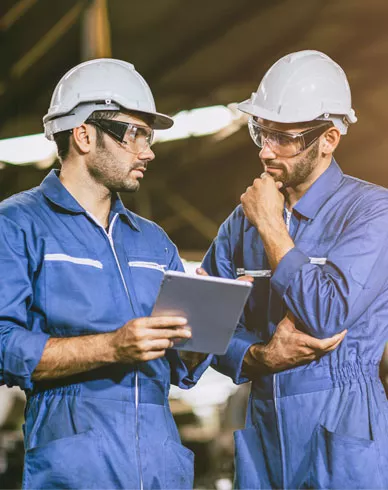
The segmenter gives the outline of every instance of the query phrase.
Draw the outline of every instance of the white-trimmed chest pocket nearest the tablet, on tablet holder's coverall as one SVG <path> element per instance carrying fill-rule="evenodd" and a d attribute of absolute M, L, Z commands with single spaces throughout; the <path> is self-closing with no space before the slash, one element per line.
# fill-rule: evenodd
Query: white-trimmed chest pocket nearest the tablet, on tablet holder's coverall
<path fill-rule="evenodd" d="M 166 257 L 130 256 L 128 257 L 128 269 L 134 294 L 141 310 L 140 314 L 148 316 L 152 312 L 164 272 L 167 270 Z"/>

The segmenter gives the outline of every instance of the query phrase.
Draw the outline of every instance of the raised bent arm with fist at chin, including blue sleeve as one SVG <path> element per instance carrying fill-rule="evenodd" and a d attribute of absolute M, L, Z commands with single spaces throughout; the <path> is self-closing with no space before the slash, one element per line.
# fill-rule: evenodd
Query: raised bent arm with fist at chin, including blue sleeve
<path fill-rule="evenodd" d="M 385 287 L 388 199 L 382 191 L 353 205 L 323 267 L 311 264 L 280 226 L 282 196 L 271 177 L 255 181 L 241 200 L 274 271 L 271 285 L 307 333 L 323 338 L 350 328 Z"/>

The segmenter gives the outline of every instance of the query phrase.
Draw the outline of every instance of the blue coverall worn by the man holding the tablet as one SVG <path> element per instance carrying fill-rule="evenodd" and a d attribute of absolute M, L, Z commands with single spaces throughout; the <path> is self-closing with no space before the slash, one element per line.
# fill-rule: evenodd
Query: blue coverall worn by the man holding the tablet
<path fill-rule="evenodd" d="M 193 485 L 193 453 L 180 443 L 167 399 L 170 380 L 191 383 L 175 351 L 31 380 L 50 336 L 108 332 L 148 316 L 163 271 L 182 270 L 161 228 L 118 197 L 109 222 L 106 231 L 54 171 L 0 204 L 0 376 L 27 393 L 24 488 Z"/>

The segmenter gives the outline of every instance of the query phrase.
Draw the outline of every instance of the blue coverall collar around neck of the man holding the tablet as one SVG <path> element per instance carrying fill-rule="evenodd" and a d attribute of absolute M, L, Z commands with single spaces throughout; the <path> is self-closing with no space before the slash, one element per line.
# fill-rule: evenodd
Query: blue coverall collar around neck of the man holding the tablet
<path fill-rule="evenodd" d="M 59 180 L 59 170 L 51 170 L 41 183 L 40 188 L 45 197 L 56 206 L 73 214 L 86 214 L 85 209 Z M 125 208 L 118 194 L 112 198 L 111 211 L 123 217 L 134 230 L 140 231 L 135 215 Z"/>

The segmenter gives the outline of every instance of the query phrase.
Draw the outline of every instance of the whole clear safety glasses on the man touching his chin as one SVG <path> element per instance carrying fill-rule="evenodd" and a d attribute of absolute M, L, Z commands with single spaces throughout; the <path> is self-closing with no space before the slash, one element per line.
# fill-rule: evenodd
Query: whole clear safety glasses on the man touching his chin
<path fill-rule="evenodd" d="M 287 158 L 302 153 L 331 126 L 331 122 L 325 122 L 300 133 L 289 133 L 262 126 L 253 117 L 250 117 L 248 121 L 249 134 L 260 149 L 267 144 L 277 156 Z"/>

